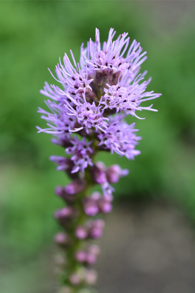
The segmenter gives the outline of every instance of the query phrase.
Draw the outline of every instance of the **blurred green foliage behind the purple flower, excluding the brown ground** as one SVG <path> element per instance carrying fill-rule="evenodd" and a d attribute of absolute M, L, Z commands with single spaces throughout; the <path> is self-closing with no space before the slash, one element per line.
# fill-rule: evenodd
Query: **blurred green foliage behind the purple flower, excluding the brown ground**
<path fill-rule="evenodd" d="M 114 27 L 141 42 L 148 52 L 141 71 L 153 77 L 149 90 L 162 93 L 153 102 L 158 113 L 144 112 L 141 121 L 131 118 L 143 137 L 141 155 L 135 161 L 100 156 L 106 164 L 120 162 L 130 169 L 115 185 L 115 205 L 122 197 L 163 197 L 195 220 L 194 6 L 194 1 L 0 2 L 2 293 L 23 292 L 21 284 L 9 287 L 8 279 L 18 284 L 24 264 L 33 266 L 30 260 L 52 245 L 57 229 L 52 213 L 61 205 L 53 190 L 68 182 L 48 160 L 63 150 L 35 129 L 44 125 L 36 113 L 44 107 L 39 90 L 44 81 L 53 82 L 47 67 L 54 71 L 70 48 L 78 60 L 81 43 L 94 40 L 96 27 L 101 41 Z"/>

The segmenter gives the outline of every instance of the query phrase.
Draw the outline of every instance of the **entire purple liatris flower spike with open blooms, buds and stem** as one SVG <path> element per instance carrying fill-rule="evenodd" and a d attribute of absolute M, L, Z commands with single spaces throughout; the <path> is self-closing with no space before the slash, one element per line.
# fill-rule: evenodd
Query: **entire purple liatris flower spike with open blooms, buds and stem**
<path fill-rule="evenodd" d="M 141 137 L 136 135 L 135 123 L 129 125 L 125 117 L 145 119 L 140 117 L 142 110 L 157 110 L 152 104 L 141 103 L 161 95 L 146 91 L 151 81 L 144 80 L 147 71 L 139 74 L 147 58 L 140 43 L 134 40 L 129 46 L 127 33 L 116 40 L 114 35 L 111 28 L 101 47 L 96 29 L 95 42 L 90 39 L 86 48 L 81 46 L 80 62 L 70 50 L 73 62 L 65 54 L 56 66 L 56 76 L 51 73 L 58 85 L 45 83 L 40 91 L 49 98 L 45 101 L 49 110 L 38 109 L 47 122 L 47 128 L 37 127 L 38 132 L 53 134 L 51 142 L 64 148 L 66 156 L 50 156 L 50 160 L 72 180 L 55 190 L 66 203 L 54 213 L 64 229 L 54 239 L 66 254 L 60 292 L 85 292 L 95 283 L 97 274 L 88 266 L 96 262 L 100 250 L 87 243 L 103 234 L 104 221 L 98 215 L 112 210 L 111 184 L 128 174 L 117 164 L 107 168 L 103 162 L 96 162 L 96 154 L 115 152 L 129 160 L 139 155 L 135 147 Z M 101 186 L 103 194 L 90 195 L 95 184 Z"/>

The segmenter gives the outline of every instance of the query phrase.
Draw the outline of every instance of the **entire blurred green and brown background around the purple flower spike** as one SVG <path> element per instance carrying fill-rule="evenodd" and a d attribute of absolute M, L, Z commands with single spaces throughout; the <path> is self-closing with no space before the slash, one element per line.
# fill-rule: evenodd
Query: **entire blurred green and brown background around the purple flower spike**
<path fill-rule="evenodd" d="M 49 162 L 50 143 L 37 107 L 58 57 L 95 28 L 128 32 L 148 51 L 142 71 L 158 113 L 131 118 L 143 137 L 135 161 L 101 154 L 130 174 L 115 185 L 98 263 L 101 293 L 193 293 L 194 265 L 194 1 L 1 1 L 0 292 L 54 293 L 54 187 L 68 178 Z"/>

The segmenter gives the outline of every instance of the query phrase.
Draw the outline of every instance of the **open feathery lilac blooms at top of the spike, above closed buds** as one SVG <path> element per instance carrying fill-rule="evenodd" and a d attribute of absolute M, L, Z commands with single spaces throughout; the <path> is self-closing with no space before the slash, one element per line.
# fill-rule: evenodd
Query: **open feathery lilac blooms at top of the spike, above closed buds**
<path fill-rule="evenodd" d="M 47 128 L 38 128 L 38 132 L 56 136 L 52 142 L 65 147 L 65 153 L 71 156 L 72 173 L 84 172 L 92 166 L 94 150 L 91 141 L 97 139 L 100 149 L 116 152 L 128 159 L 134 159 L 140 152 L 135 150 L 137 141 L 134 124 L 124 121 L 127 115 L 144 119 L 138 111 L 157 111 L 142 102 L 160 96 L 153 91 L 146 91 L 151 78 L 144 80 L 147 71 L 139 74 L 140 65 L 146 60 L 146 52 L 140 43 L 130 38 L 127 33 L 114 40 L 115 31 L 110 29 L 107 42 L 101 46 L 99 30 L 96 29 L 95 41 L 87 47 L 81 46 L 80 63 L 70 55 L 73 64 L 65 54 L 63 62 L 56 65 L 58 86 L 47 84 L 40 92 L 49 98 L 45 101 L 50 111 L 39 108 L 41 118 L 46 120 Z M 51 72 L 51 71 L 50 71 Z M 113 114 L 119 115 L 113 116 Z M 77 132 L 84 136 L 82 140 L 73 136 Z M 67 168 L 66 163 L 59 163 L 58 170 Z"/>

